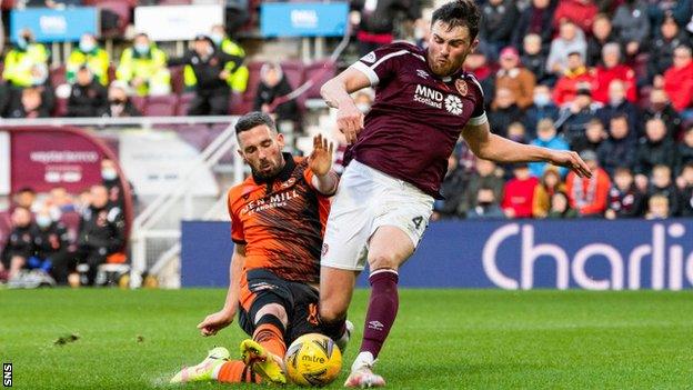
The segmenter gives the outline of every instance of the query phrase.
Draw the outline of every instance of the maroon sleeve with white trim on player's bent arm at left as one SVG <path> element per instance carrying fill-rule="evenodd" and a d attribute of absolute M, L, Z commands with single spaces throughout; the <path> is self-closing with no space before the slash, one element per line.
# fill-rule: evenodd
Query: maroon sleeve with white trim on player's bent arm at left
<path fill-rule="evenodd" d="M 396 73 L 400 61 L 403 56 L 419 56 L 412 51 L 409 43 L 391 43 L 378 48 L 370 53 L 363 56 L 359 61 L 354 62 L 350 68 L 359 70 L 371 81 L 371 87 L 378 86 Z"/>

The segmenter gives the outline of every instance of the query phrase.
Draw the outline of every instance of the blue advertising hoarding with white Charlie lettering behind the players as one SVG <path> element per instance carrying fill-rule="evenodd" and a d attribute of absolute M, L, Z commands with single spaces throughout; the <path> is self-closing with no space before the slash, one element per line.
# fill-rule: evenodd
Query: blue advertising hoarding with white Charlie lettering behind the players
<path fill-rule="evenodd" d="M 183 222 L 182 286 L 227 287 L 228 222 Z M 359 281 L 364 284 L 363 276 Z M 400 270 L 418 288 L 693 288 L 693 220 L 451 221 Z"/>

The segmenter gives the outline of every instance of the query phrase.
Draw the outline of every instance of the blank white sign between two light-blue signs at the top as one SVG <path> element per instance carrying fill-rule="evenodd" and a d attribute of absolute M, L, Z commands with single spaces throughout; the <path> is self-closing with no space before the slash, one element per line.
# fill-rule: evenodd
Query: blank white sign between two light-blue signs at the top
<path fill-rule="evenodd" d="M 134 9 L 134 28 L 154 41 L 182 41 L 223 24 L 222 6 L 155 6 Z"/>

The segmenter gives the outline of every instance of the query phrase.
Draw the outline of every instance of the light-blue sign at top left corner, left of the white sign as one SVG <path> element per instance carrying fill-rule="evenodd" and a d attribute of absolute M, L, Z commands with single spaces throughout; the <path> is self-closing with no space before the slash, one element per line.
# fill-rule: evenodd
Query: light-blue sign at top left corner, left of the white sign
<path fill-rule="evenodd" d="M 10 39 L 17 42 L 22 29 L 31 29 L 37 42 L 77 41 L 86 33 L 99 36 L 99 9 L 76 7 L 64 10 L 28 8 L 10 13 Z"/>

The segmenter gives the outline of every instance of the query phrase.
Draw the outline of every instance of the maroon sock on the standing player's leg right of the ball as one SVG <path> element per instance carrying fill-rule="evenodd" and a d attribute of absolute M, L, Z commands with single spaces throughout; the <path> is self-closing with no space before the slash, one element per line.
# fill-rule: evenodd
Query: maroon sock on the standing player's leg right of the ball
<path fill-rule="evenodd" d="M 396 287 L 399 276 L 394 270 L 376 270 L 369 280 L 371 299 L 365 317 L 361 352 L 371 352 L 373 358 L 378 358 L 400 306 Z"/>

